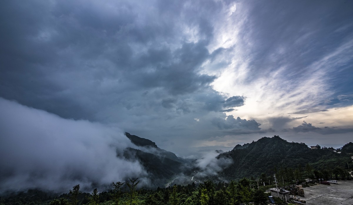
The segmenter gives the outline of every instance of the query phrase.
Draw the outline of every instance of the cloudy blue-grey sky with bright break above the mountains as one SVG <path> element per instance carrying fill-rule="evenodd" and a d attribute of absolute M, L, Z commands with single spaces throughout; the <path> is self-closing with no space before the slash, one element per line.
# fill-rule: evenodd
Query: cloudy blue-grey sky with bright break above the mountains
<path fill-rule="evenodd" d="M 1 1 L 4 154 L 24 141 L 29 152 L 131 146 L 124 132 L 186 158 L 273 135 L 341 147 L 353 134 L 352 11 L 343 0 Z"/>

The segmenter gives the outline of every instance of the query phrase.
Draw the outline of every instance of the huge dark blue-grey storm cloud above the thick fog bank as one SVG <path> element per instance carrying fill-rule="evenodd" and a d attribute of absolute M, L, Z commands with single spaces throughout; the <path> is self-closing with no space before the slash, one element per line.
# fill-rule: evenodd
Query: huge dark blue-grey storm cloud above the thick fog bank
<path fill-rule="evenodd" d="M 104 122 L 162 111 L 158 99 L 174 113 L 224 109 L 225 97 L 209 88 L 216 77 L 199 73 L 222 50 L 208 52 L 214 30 L 205 18 L 221 4 L 158 2 L 147 12 L 143 3 L 81 3 L 2 2 L 0 96 L 66 118 Z M 197 42 L 184 39 L 184 25 L 198 29 Z M 203 97 L 193 97 L 195 92 Z M 240 97 L 225 105 L 243 103 Z"/>

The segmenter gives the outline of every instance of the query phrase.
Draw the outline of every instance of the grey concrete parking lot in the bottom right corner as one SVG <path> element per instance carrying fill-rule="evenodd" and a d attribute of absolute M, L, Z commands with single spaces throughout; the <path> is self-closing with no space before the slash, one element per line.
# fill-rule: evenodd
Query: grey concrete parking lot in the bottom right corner
<path fill-rule="evenodd" d="M 305 187 L 305 197 L 308 205 L 353 205 L 353 180 L 338 181 L 339 184 Z"/>

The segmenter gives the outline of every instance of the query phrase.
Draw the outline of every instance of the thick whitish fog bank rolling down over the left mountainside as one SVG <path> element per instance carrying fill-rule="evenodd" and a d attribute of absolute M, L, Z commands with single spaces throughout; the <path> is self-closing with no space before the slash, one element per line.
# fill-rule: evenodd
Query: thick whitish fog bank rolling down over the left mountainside
<path fill-rule="evenodd" d="M 62 119 L 3 98 L 0 113 L 0 154 L 6 156 L 0 159 L 0 192 L 67 192 L 76 184 L 89 191 L 129 177 L 149 182 L 138 161 L 117 157 L 134 146 L 119 128 Z"/>

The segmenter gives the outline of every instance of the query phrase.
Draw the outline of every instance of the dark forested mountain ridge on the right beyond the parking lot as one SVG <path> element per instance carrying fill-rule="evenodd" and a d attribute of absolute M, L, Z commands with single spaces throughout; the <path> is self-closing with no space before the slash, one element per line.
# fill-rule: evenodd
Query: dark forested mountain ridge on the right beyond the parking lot
<path fill-rule="evenodd" d="M 276 135 L 263 137 L 244 149 L 233 149 L 220 154 L 218 157 L 233 159 L 233 163 L 220 174 L 226 179 L 240 179 L 259 176 L 261 173 L 271 175 L 281 167 L 305 167 L 306 164 L 311 164 L 315 169 L 344 167 L 345 163 L 351 161 L 347 152 L 351 151 L 351 144 L 345 145 L 342 153 L 336 153 L 330 149 L 312 150 L 304 143 L 290 143 Z"/>

